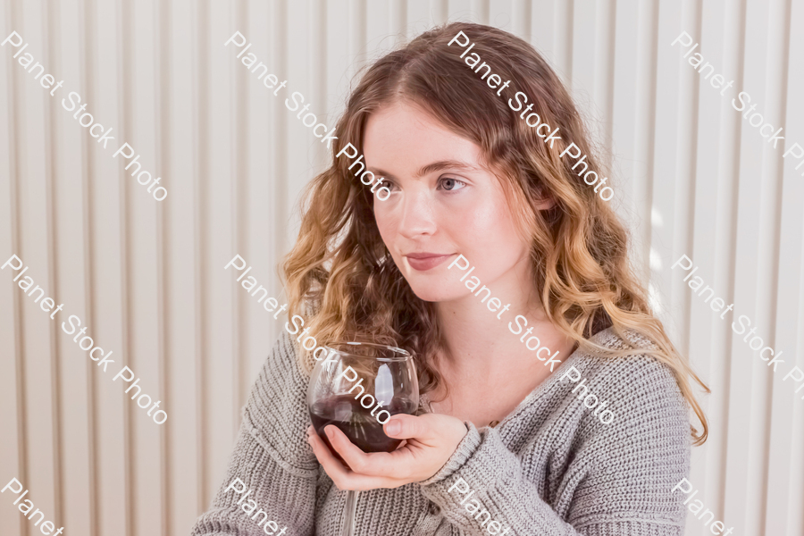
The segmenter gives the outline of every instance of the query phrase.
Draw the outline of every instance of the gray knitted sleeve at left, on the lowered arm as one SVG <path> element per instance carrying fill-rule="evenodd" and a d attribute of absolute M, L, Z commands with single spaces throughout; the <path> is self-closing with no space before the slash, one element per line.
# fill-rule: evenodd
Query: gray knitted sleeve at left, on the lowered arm
<path fill-rule="evenodd" d="M 193 536 L 314 533 L 318 463 L 306 441 L 306 386 L 283 332 L 251 389 L 226 478 Z"/>

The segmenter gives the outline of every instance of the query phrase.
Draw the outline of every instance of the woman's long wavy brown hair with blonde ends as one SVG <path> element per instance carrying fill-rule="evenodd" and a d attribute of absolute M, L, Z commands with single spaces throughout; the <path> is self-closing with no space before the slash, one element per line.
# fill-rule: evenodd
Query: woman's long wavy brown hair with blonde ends
<path fill-rule="evenodd" d="M 464 49 L 448 46 L 459 31 L 502 80 L 511 80 L 507 96 L 522 91 L 534 105 L 532 112 L 551 130 L 559 128 L 555 147 L 525 124 L 507 97 L 468 68 L 460 57 Z M 365 69 L 335 129 L 331 166 L 314 178 L 302 200 L 298 240 L 282 265 L 289 314 L 303 315 L 319 341 L 363 340 L 411 350 L 421 391 L 443 383 L 438 356 L 446 348 L 435 308 L 415 296 L 385 247 L 370 188 L 348 170 L 348 158 L 336 157 L 348 142 L 362 154 L 369 116 L 397 99 L 420 106 L 482 148 L 484 163 L 501 180 L 519 230 L 532 244 L 533 282 L 557 329 L 601 357 L 633 355 L 638 348 L 666 364 L 701 423 L 700 431 L 691 429 L 695 444 L 703 443 L 708 425 L 691 380 L 708 392 L 707 386 L 651 313 L 628 262 L 623 224 L 575 174 L 572 159 L 559 157 L 573 142 L 587 155 L 589 169 L 606 176 L 573 100 L 532 46 L 500 29 L 451 23 Z M 554 202 L 552 208 L 537 210 L 545 198 Z M 608 327 L 631 348 L 614 351 L 589 340 Z M 312 356 L 301 348 L 299 355 L 311 370 Z"/>

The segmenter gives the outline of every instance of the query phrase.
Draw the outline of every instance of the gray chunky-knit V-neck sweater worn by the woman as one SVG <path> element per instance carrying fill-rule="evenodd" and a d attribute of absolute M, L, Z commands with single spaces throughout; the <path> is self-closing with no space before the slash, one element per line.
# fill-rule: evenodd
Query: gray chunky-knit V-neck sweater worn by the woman
<path fill-rule="evenodd" d="M 593 338 L 624 348 L 611 330 Z M 193 534 L 272 533 L 265 515 L 284 534 L 339 535 L 346 491 L 324 473 L 306 440 L 308 378 L 297 365 L 287 333 L 265 362 L 243 412 L 229 471 L 213 506 Z M 616 414 L 603 424 L 561 376 L 573 366 L 585 385 Z M 493 396 L 487 393 L 484 396 Z M 663 364 L 648 356 L 599 358 L 576 350 L 495 428 L 469 432 L 438 473 L 397 489 L 361 491 L 358 536 L 669 536 L 683 534 L 683 494 L 671 493 L 689 472 L 687 406 Z M 226 490 L 234 479 L 251 494 Z M 473 491 L 448 492 L 458 479 Z M 475 519 L 477 499 L 498 525 Z M 247 514 L 247 511 L 249 514 Z M 273 526 L 273 525 L 272 525 Z M 490 529 L 490 527 L 492 527 Z M 500 528 L 501 527 L 501 528 Z M 490 529 L 490 530 L 487 530 Z M 278 534 L 279 532 L 273 532 Z"/>

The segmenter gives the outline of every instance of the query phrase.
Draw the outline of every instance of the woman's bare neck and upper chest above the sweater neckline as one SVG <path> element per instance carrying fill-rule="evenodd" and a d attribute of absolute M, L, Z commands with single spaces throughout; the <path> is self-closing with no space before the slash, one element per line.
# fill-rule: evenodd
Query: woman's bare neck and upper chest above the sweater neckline
<path fill-rule="evenodd" d="M 556 363 L 544 366 L 547 359 L 572 353 L 574 340 L 548 320 L 532 281 L 523 257 L 503 277 L 476 286 L 467 279 L 472 293 L 436 304 L 445 385 L 432 393 L 434 411 L 477 426 L 502 420 L 549 376 Z"/>

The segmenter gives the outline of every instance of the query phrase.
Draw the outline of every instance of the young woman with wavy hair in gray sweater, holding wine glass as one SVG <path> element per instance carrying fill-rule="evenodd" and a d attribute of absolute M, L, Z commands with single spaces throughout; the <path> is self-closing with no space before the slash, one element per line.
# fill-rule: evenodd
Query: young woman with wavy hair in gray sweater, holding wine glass
<path fill-rule="evenodd" d="M 432 29 L 365 71 L 336 134 L 283 266 L 289 314 L 318 340 L 412 350 L 425 411 L 389 419 L 386 434 L 406 440 L 391 453 L 365 454 L 329 426 L 341 464 L 309 427 L 314 358 L 283 333 L 194 534 L 334 536 L 346 490 L 363 490 L 361 536 L 682 534 L 672 490 L 706 440 L 691 379 L 706 386 L 651 314 L 611 205 L 584 181 L 605 173 L 540 54 L 487 26 Z M 347 143 L 359 165 L 337 156 Z M 588 169 L 561 156 L 570 144 Z M 390 193 L 361 183 L 364 171 Z M 498 302 L 476 296 L 473 278 Z"/>

